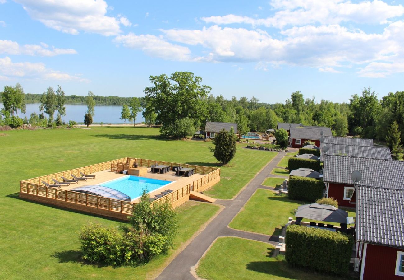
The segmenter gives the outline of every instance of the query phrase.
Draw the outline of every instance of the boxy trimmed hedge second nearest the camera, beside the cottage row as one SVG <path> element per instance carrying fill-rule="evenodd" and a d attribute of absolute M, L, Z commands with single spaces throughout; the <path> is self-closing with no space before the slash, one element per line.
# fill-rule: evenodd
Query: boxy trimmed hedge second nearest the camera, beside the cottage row
<path fill-rule="evenodd" d="M 324 183 L 322 180 L 290 176 L 288 184 L 288 197 L 290 199 L 315 202 L 323 197 Z"/>

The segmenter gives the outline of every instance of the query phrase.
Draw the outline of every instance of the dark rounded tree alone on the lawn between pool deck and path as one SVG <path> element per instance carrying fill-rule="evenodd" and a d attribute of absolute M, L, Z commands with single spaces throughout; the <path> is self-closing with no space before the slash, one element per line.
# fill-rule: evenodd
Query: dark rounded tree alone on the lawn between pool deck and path
<path fill-rule="evenodd" d="M 236 155 L 237 146 L 236 146 L 237 137 L 234 134 L 234 129 L 231 127 L 230 131 L 227 132 L 225 129 L 222 129 L 215 135 L 213 140 L 213 144 L 215 144 L 215 148 L 210 148 L 210 151 L 213 152 L 213 156 L 223 165 L 226 165 L 233 159 L 234 155 Z"/>

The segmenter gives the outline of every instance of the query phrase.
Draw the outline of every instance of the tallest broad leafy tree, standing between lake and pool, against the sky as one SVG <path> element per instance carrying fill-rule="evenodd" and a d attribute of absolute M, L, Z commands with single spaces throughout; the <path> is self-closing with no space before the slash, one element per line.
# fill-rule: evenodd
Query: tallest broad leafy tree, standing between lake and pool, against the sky
<path fill-rule="evenodd" d="M 152 87 L 144 89 L 146 102 L 157 113 L 157 123 L 163 127 L 175 121 L 191 118 L 196 126 L 206 119 L 206 102 L 210 87 L 201 85 L 202 78 L 191 72 L 175 72 L 150 76 Z"/>

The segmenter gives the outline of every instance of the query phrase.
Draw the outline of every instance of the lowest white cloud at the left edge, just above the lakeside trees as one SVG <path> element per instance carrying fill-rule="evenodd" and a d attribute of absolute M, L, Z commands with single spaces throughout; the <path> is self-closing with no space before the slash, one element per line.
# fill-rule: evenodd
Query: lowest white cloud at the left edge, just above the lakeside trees
<path fill-rule="evenodd" d="M 32 62 L 12 62 L 10 57 L 0 58 L 0 77 L 6 79 L 17 78 L 42 78 L 45 80 L 63 80 L 88 82 L 87 79 L 79 75 L 70 75 L 60 71 L 46 68 L 43 63 Z"/>

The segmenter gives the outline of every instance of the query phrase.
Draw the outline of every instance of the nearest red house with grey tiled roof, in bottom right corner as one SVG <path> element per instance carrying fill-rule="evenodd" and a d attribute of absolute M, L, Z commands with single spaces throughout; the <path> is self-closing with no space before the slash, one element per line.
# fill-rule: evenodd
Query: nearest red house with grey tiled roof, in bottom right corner
<path fill-rule="evenodd" d="M 404 185 L 356 186 L 360 279 L 404 279 Z"/>

